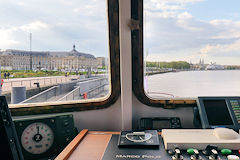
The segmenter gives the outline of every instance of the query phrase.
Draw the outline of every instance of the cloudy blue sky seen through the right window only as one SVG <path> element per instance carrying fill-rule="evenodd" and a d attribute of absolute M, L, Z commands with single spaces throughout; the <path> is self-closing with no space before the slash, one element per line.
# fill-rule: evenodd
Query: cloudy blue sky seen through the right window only
<path fill-rule="evenodd" d="M 145 59 L 240 65 L 239 6 L 239 0 L 145 0 Z"/>

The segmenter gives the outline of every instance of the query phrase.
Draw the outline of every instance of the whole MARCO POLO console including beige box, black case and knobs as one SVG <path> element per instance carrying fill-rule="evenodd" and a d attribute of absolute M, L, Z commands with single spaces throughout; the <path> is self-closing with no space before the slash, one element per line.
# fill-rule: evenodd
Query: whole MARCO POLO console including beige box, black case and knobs
<path fill-rule="evenodd" d="M 159 143 L 150 147 L 147 141 L 156 135 L 154 132 L 122 131 L 121 135 L 112 135 L 102 159 L 239 160 L 240 157 L 240 135 L 232 129 L 163 129 L 158 134 Z M 218 137 L 221 134 L 226 137 Z M 227 137 L 228 134 L 231 136 Z M 119 145 L 122 139 L 124 147 Z"/>

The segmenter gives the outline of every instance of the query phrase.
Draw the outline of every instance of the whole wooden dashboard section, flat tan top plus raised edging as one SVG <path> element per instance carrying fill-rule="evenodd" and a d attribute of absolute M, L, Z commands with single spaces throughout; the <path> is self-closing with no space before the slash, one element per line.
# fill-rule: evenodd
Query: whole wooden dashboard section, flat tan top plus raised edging
<path fill-rule="evenodd" d="M 84 129 L 55 160 L 100 160 L 112 134 L 120 134 L 120 132 L 88 131 Z"/>

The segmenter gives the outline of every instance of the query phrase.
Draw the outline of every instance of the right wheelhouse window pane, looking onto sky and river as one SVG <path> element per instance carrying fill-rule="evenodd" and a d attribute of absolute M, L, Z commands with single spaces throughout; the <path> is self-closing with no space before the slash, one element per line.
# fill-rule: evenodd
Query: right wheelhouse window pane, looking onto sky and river
<path fill-rule="evenodd" d="M 145 94 L 239 96 L 240 2 L 144 0 Z"/>

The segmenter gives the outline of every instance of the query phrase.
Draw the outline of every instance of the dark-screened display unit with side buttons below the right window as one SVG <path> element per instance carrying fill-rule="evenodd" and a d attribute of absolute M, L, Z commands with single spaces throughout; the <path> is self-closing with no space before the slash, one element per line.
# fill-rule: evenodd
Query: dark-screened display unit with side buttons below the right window
<path fill-rule="evenodd" d="M 240 128 L 240 97 L 198 97 L 202 128 Z"/>

